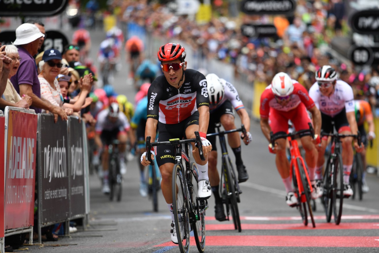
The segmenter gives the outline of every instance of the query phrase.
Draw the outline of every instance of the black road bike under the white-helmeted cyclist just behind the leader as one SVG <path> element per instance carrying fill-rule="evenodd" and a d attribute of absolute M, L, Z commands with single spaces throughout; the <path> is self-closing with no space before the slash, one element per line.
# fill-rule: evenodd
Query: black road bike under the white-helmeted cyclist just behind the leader
<path fill-rule="evenodd" d="M 218 136 L 221 145 L 222 152 L 222 166 L 221 166 L 221 183 L 220 196 L 222 197 L 222 202 L 226 204 L 227 220 L 229 220 L 229 214 L 232 215 L 234 229 L 238 229 L 241 232 L 241 220 L 240 212 L 238 211 L 238 203 L 241 202 L 240 194 L 242 193 L 240 185 L 238 185 L 238 178 L 236 177 L 235 170 L 233 168 L 232 162 L 228 154 L 228 149 L 226 146 L 226 134 L 231 134 L 234 132 L 242 132 L 246 137 L 246 129 L 244 125 L 241 125 L 240 129 L 233 129 L 227 131 L 220 131 L 221 124 L 216 124 L 217 133 L 207 134 L 207 136 Z"/>

